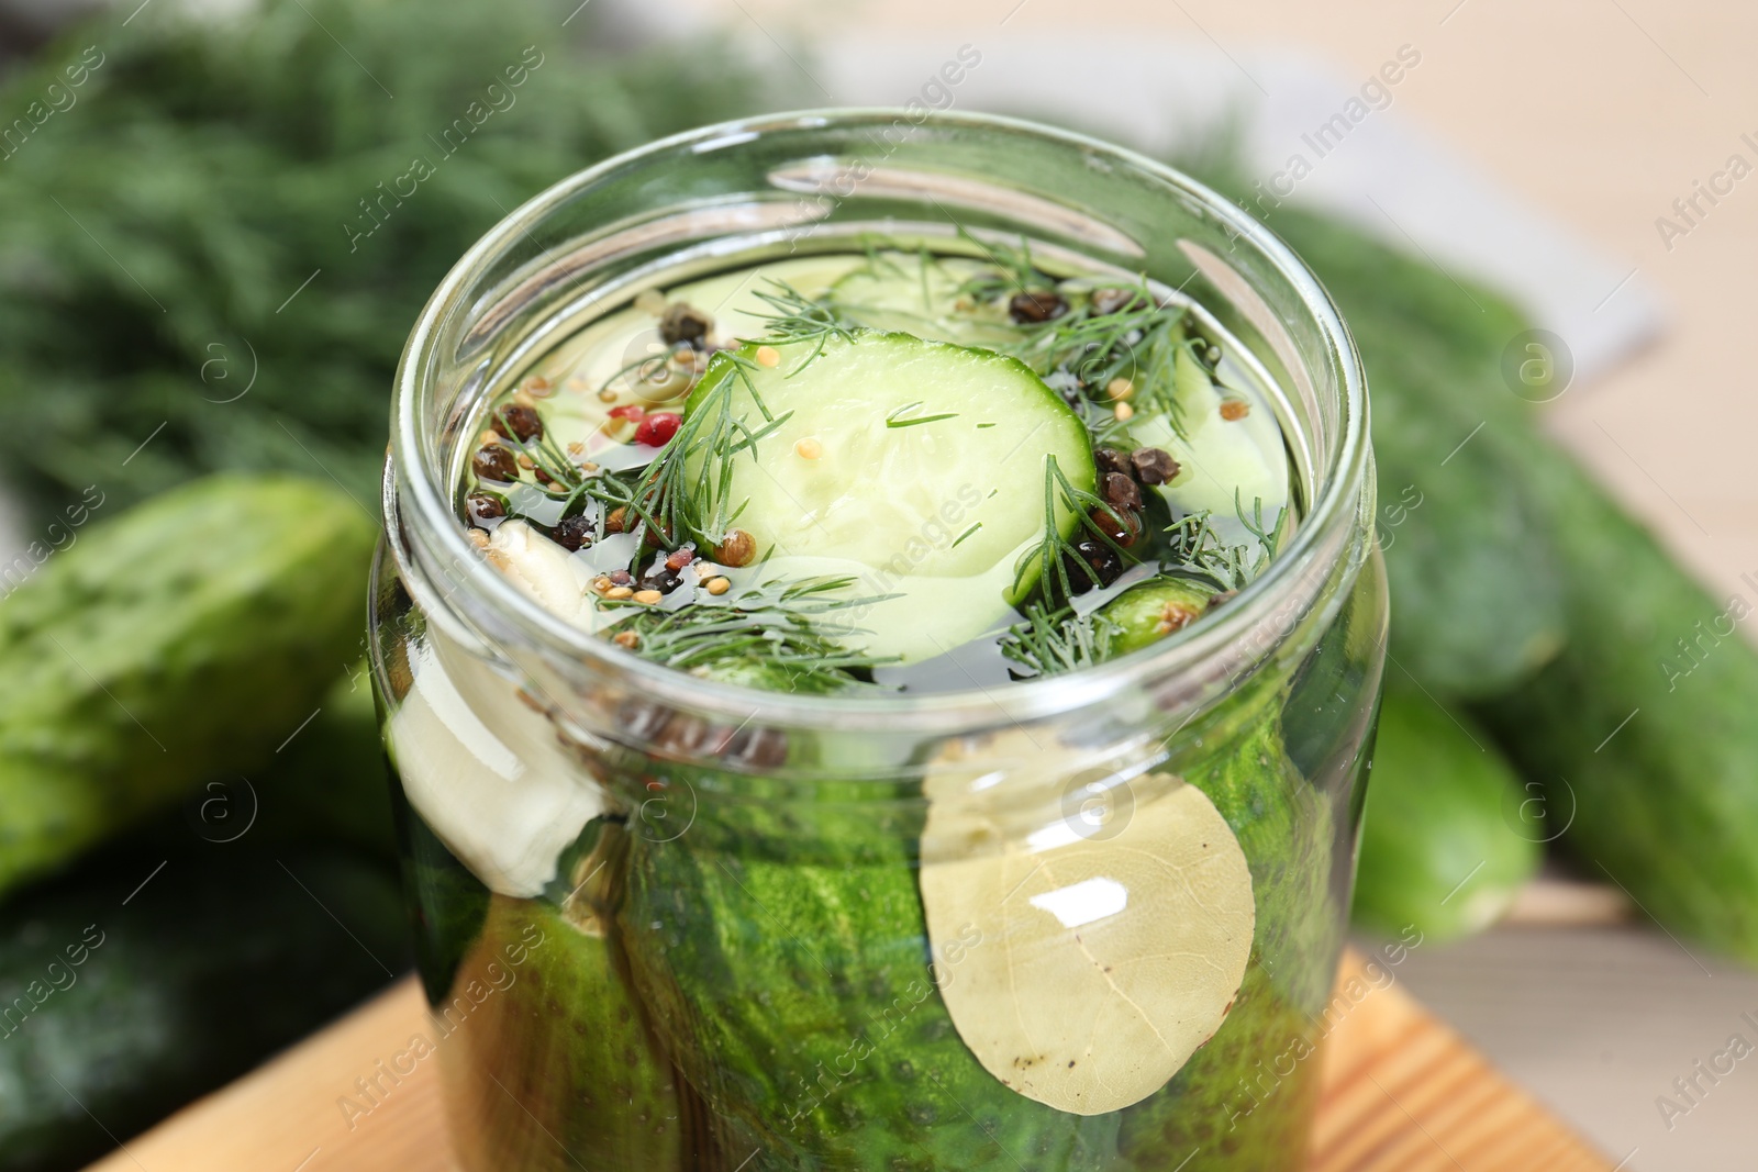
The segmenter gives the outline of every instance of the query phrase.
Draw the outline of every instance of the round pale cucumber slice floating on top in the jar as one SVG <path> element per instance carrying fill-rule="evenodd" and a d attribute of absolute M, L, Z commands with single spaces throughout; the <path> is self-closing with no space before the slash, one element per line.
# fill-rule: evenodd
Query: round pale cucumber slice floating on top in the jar
<path fill-rule="evenodd" d="M 684 411 L 689 434 L 710 436 L 724 411 L 756 436 L 691 450 L 689 483 L 716 506 L 703 517 L 749 532 L 768 576 L 853 576 L 849 597 L 897 596 L 853 606 L 861 631 L 844 634 L 904 662 L 1013 620 L 1039 575 L 1034 561 L 1014 582 L 1044 536 L 1048 457 L 1079 488 L 1095 480 L 1081 420 L 1025 364 L 909 334 L 716 355 Z M 1057 524 L 1074 527 L 1060 501 Z"/>

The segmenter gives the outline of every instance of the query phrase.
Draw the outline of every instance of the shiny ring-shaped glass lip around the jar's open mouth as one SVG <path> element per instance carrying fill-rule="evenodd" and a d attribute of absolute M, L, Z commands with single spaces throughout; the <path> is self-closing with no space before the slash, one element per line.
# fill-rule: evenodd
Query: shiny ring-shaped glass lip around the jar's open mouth
<path fill-rule="evenodd" d="M 737 149 L 765 135 L 802 130 L 891 128 L 905 121 L 921 130 L 965 130 L 972 134 L 1025 135 L 1041 144 L 1067 148 L 1090 165 L 1127 170 L 1166 188 L 1169 199 L 1185 209 L 1199 211 L 1222 225 L 1229 242 L 1243 241 L 1275 271 L 1297 300 L 1303 325 L 1315 330 L 1320 341 L 1318 357 L 1329 367 L 1327 381 L 1334 387 L 1334 434 L 1322 436 L 1322 462 L 1308 474 L 1310 499 L 1292 541 L 1246 583 L 1225 606 L 1210 611 L 1188 631 L 1160 643 L 1132 652 L 1115 661 L 1083 668 L 1050 678 L 1020 680 L 999 689 L 974 685 L 970 689 L 875 694 L 875 696 L 798 696 L 789 692 L 758 692 L 731 684 L 703 680 L 675 668 L 642 659 L 624 648 L 568 624 L 520 592 L 498 573 L 466 538 L 464 525 L 452 508 L 452 462 L 440 446 L 432 418 L 424 413 L 427 397 L 436 394 L 436 371 L 443 369 L 441 353 L 445 327 L 457 320 L 469 322 L 464 332 L 482 344 L 485 329 L 482 318 L 492 318 L 499 300 L 499 286 L 485 281 L 490 269 L 520 246 L 536 244 L 531 227 L 566 207 L 582 192 L 642 167 L 652 167 L 680 153 L 708 155 Z M 870 135 L 868 135 L 870 137 Z M 781 186 L 781 184 L 777 184 Z M 1041 199 L 1020 192 L 1021 199 Z M 1050 200 L 1044 200 L 1046 204 Z M 1090 214 L 1090 213 L 1081 213 Z M 1097 223 L 1092 220 L 1090 223 Z M 608 227 L 608 225 L 607 225 Z M 1243 286 L 1243 278 L 1224 260 L 1202 250 L 1201 244 L 1180 246 L 1204 269 L 1202 253 L 1218 269 L 1204 271 L 1211 279 L 1231 278 Z M 538 248 L 541 248 L 538 244 Z M 577 272 L 580 269 L 570 269 Z M 529 285 L 534 278 L 526 278 Z M 515 278 L 517 281 L 517 278 Z M 1250 290 L 1243 290 L 1250 293 Z M 1280 332 L 1287 339 L 1285 323 L 1276 322 L 1271 307 L 1255 299 L 1262 316 L 1257 322 L 1271 337 Z M 1250 311 L 1248 311 L 1250 313 Z M 1287 343 L 1292 346 L 1292 343 Z M 1289 355 L 1289 373 L 1306 383 L 1311 397 L 1306 364 Z M 482 390 L 468 385 L 466 392 Z M 1283 388 L 1289 390 L 1289 388 Z M 1327 392 L 1318 392 L 1327 394 Z M 468 415 L 475 404 L 468 394 L 452 411 L 448 422 Z M 1313 423 L 1324 430 L 1324 422 Z M 538 193 L 476 241 L 452 267 L 424 306 L 403 360 L 392 399 L 392 441 L 385 466 L 383 508 L 390 550 L 408 582 L 436 576 L 431 571 L 447 568 L 447 587 L 432 594 L 443 596 L 443 606 L 464 620 L 466 629 L 487 634 L 490 643 L 515 643 L 548 661 L 571 662 L 594 678 L 615 682 L 629 692 L 640 692 L 661 703 L 677 703 L 698 712 L 714 712 L 733 720 L 761 712 L 775 724 L 837 726 L 846 729 L 884 729 L 898 720 L 911 727 L 953 733 L 958 729 L 988 729 L 1007 720 L 1025 724 L 1081 708 L 1102 706 L 1109 699 L 1136 694 L 1143 689 L 1164 692 L 1171 684 L 1174 692 L 1188 692 L 1190 699 L 1211 694 L 1211 685 L 1236 682 L 1250 675 L 1276 645 L 1304 619 L 1334 580 L 1334 566 L 1345 559 L 1359 564 L 1369 539 L 1362 529 L 1362 492 L 1371 490 L 1368 441 L 1366 376 L 1354 341 L 1329 293 L 1306 265 L 1273 232 L 1264 228 L 1241 207 L 1220 193 L 1136 151 L 1093 139 L 1083 134 L 1044 127 L 1027 119 L 965 112 L 909 112 L 904 109 L 816 109 L 784 114 L 765 114 L 689 130 L 668 139 L 608 158 L 577 172 Z M 413 564 L 411 564 L 413 562 Z M 997 719 L 1000 717 L 1000 720 Z"/>

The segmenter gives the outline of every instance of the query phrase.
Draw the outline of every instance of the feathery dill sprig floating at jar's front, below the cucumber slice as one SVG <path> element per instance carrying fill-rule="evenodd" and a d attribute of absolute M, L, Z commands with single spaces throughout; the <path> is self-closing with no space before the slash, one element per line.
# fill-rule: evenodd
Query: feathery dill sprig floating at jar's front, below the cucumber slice
<path fill-rule="evenodd" d="M 677 610 L 656 610 L 629 601 L 603 601 L 605 610 L 633 610 L 617 634 L 633 634 L 633 652 L 666 668 L 689 671 L 744 661 L 786 671 L 809 687 L 833 689 L 858 682 L 851 673 L 895 662 L 853 652 L 837 634 L 858 634 L 849 622 L 828 617 L 881 597 L 847 597 L 854 578 L 798 578 L 770 582 L 733 601 L 696 601 Z"/>

